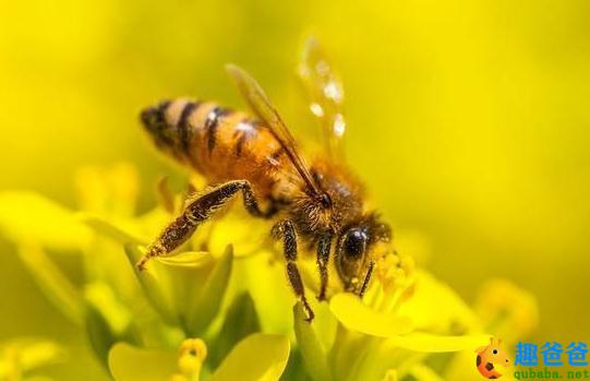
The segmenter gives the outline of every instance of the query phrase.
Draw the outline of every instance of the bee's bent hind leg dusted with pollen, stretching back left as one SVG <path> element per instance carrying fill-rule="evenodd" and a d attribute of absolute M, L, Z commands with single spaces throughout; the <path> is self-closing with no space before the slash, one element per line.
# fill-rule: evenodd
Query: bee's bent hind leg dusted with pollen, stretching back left
<path fill-rule="evenodd" d="M 184 243 L 196 230 L 198 225 L 207 221 L 219 207 L 226 204 L 236 193 L 242 191 L 245 209 L 255 216 L 266 216 L 268 212 L 258 209 L 258 203 L 246 180 L 228 181 L 214 187 L 194 200 L 190 200 L 182 214 L 168 225 L 158 239 L 147 249 L 145 255 L 137 263 L 137 267 L 145 269 L 149 259 L 167 255 Z"/>

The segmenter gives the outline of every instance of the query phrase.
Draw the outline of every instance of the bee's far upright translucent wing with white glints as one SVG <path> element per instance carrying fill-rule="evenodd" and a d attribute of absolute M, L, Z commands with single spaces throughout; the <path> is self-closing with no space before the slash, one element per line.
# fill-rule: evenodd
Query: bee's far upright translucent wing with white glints
<path fill-rule="evenodd" d="M 303 47 L 298 75 L 308 93 L 310 110 L 322 126 L 325 148 L 333 158 L 342 158 L 346 130 L 342 84 L 314 38 L 308 39 Z"/>

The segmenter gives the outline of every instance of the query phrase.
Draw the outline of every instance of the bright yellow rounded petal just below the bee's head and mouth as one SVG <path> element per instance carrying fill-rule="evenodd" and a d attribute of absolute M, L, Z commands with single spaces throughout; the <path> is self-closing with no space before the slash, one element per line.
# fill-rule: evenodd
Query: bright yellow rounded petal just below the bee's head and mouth
<path fill-rule="evenodd" d="M 329 308 L 346 328 L 369 335 L 393 337 L 412 330 L 408 318 L 380 313 L 363 305 L 362 300 L 352 294 L 335 295 L 329 302 Z"/>

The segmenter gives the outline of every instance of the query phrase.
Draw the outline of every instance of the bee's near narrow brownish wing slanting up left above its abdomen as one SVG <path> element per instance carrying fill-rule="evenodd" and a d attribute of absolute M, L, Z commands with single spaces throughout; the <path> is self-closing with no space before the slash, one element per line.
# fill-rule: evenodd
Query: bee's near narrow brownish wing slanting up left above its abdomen
<path fill-rule="evenodd" d="M 305 181 L 308 190 L 312 194 L 321 194 L 322 192 L 311 176 L 303 158 L 298 154 L 293 135 L 256 80 L 234 64 L 226 66 L 226 70 L 236 82 L 250 108 L 266 123 L 275 139 L 280 143 L 297 171 L 303 181 Z"/>

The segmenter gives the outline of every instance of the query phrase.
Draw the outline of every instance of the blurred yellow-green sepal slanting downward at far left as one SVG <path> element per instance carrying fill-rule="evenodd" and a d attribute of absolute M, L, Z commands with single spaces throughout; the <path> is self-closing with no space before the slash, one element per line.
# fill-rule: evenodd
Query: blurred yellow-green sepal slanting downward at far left
<path fill-rule="evenodd" d="M 39 247 L 27 245 L 17 250 L 19 257 L 39 289 L 68 319 L 77 325 L 84 320 L 82 295 Z"/>

